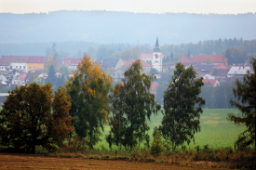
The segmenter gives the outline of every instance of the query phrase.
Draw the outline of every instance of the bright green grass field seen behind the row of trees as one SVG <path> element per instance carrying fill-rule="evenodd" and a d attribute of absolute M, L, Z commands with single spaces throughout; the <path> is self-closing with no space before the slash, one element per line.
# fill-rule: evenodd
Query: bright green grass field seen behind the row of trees
<path fill-rule="evenodd" d="M 209 145 L 210 148 L 221 148 L 221 147 L 232 147 L 238 134 L 246 129 L 246 126 L 236 125 L 226 120 L 227 114 L 233 112 L 236 115 L 239 113 L 238 110 L 232 109 L 205 109 L 200 117 L 201 132 L 195 134 L 195 144 L 192 142 L 187 149 L 194 149 L 195 146 Z M 152 137 L 153 129 L 155 126 L 161 124 L 162 113 L 158 113 L 156 116 L 151 117 L 149 135 Z M 95 148 L 101 148 L 103 145 L 105 148 L 108 147 L 108 143 L 105 141 L 105 135 L 109 133 L 110 128 L 105 127 L 105 130 L 99 142 Z M 151 138 L 152 141 L 153 138 Z"/>

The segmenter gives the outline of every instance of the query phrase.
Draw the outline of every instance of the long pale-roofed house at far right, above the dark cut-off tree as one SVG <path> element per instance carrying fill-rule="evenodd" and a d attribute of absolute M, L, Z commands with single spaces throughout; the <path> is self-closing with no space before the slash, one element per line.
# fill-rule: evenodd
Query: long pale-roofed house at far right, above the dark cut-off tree
<path fill-rule="evenodd" d="M 229 72 L 227 72 L 227 77 L 242 77 L 247 73 L 253 73 L 251 67 L 245 66 L 233 66 Z"/>

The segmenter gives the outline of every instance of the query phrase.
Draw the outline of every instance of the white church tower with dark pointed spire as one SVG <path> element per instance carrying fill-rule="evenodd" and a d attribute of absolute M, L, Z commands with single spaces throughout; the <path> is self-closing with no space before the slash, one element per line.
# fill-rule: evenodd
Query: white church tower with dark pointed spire
<path fill-rule="evenodd" d="M 158 37 L 156 37 L 155 48 L 153 50 L 152 66 L 158 72 L 162 72 L 162 52 L 158 44 Z"/>

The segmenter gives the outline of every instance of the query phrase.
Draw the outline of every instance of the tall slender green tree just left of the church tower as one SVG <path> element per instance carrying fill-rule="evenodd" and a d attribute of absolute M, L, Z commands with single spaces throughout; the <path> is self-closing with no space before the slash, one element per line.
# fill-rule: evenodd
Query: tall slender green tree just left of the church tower
<path fill-rule="evenodd" d="M 127 124 L 125 128 L 124 145 L 130 150 L 146 137 L 149 130 L 147 121 L 150 121 L 152 113 L 160 110 L 156 105 L 155 95 L 150 93 L 151 83 L 155 76 L 142 72 L 140 60 L 136 60 L 124 73 L 122 83 L 125 87 L 123 102 Z"/>

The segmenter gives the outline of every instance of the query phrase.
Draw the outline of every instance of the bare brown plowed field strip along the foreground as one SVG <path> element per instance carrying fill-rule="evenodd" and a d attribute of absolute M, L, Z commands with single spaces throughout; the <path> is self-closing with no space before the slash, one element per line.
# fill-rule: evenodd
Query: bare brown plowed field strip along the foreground
<path fill-rule="evenodd" d="M 0 153 L 0 169 L 209 169 L 169 163 L 142 163 Z"/>

